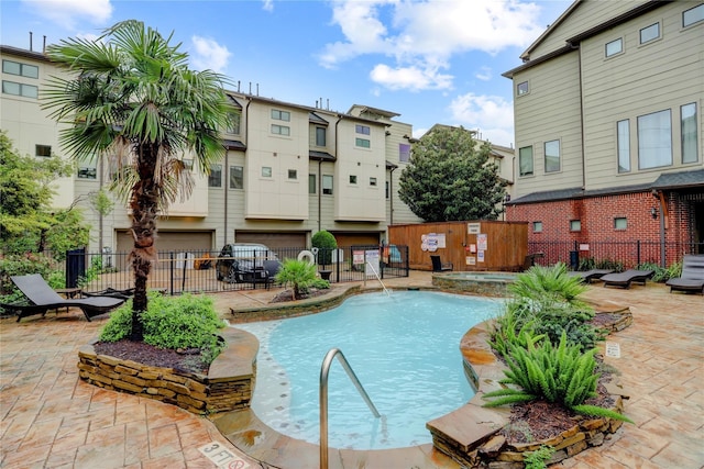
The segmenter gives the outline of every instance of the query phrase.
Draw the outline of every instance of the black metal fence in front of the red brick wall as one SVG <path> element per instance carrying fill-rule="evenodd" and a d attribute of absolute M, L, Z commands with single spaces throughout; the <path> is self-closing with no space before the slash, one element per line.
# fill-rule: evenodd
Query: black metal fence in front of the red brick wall
<path fill-rule="evenodd" d="M 572 270 L 590 268 L 635 268 L 644 264 L 668 267 L 685 254 L 704 254 L 704 243 L 658 242 L 530 242 L 528 254 L 536 264 L 566 264 Z"/>

